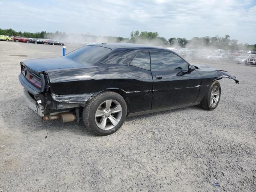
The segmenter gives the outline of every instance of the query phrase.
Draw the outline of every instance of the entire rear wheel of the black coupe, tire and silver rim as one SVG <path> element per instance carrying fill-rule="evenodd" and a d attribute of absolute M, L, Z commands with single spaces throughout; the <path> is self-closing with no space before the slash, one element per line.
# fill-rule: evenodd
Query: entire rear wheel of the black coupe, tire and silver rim
<path fill-rule="evenodd" d="M 116 132 L 124 123 L 126 102 L 119 94 L 106 91 L 98 94 L 83 110 L 85 127 L 93 134 L 106 136 Z"/>

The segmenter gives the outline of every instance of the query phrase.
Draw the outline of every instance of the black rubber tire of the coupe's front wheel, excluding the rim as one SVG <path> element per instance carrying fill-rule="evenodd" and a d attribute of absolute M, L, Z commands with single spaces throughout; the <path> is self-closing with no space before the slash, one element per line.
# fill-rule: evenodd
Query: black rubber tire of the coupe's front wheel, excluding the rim
<path fill-rule="evenodd" d="M 215 105 L 211 104 L 211 99 L 212 99 L 212 89 L 218 86 L 218 90 L 219 90 L 219 97 L 218 97 L 218 102 L 215 103 Z M 221 95 L 221 87 L 220 87 L 220 83 L 218 81 L 213 81 L 212 84 L 209 86 L 208 90 L 206 91 L 206 94 L 203 98 L 203 100 L 201 101 L 200 106 L 206 110 L 214 110 L 219 102 L 220 102 L 220 95 Z"/>

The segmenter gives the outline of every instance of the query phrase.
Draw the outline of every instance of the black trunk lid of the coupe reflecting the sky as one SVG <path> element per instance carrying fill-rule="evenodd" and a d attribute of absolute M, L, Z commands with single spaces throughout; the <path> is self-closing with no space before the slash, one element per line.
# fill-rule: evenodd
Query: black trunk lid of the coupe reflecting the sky
<path fill-rule="evenodd" d="M 24 61 L 23 64 L 37 73 L 63 68 L 86 68 L 92 66 L 92 63 L 76 62 L 67 57 L 31 59 Z"/>

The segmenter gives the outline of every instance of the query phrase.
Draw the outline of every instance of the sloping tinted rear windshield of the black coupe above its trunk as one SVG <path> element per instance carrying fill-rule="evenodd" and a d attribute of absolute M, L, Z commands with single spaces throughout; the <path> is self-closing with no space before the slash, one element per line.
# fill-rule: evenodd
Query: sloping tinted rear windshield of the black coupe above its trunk
<path fill-rule="evenodd" d="M 70 52 L 65 57 L 80 62 L 96 63 L 110 52 L 109 48 L 88 45 Z"/>

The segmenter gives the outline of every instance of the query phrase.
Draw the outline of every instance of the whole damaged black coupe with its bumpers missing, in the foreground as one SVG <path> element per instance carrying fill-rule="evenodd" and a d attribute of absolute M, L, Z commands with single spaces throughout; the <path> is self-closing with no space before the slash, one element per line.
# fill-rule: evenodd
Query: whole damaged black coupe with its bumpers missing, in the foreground
<path fill-rule="evenodd" d="M 97 135 L 116 132 L 127 116 L 192 105 L 213 110 L 226 71 L 191 65 L 171 50 L 94 44 L 59 58 L 21 62 L 27 104 L 43 120 L 79 121 Z"/>

